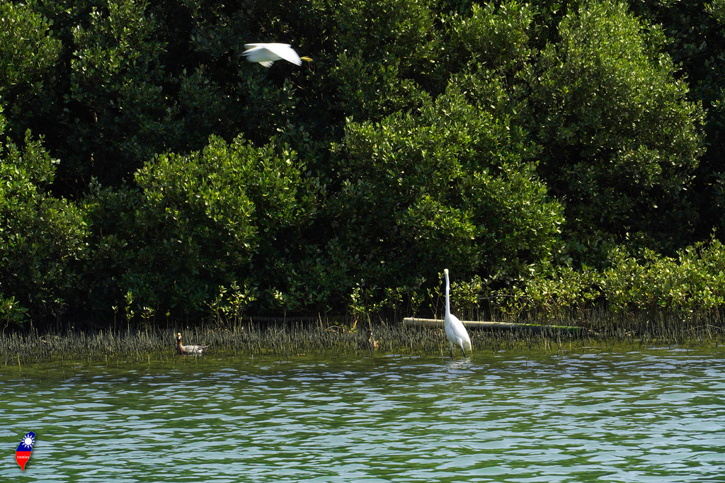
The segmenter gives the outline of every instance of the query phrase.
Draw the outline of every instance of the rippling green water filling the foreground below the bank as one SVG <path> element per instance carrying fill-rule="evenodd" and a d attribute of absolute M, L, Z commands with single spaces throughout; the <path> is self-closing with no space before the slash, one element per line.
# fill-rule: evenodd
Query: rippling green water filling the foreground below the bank
<path fill-rule="evenodd" d="M 725 355 L 0 368 L 0 479 L 714 482 Z M 36 432 L 22 473 L 14 449 Z"/>

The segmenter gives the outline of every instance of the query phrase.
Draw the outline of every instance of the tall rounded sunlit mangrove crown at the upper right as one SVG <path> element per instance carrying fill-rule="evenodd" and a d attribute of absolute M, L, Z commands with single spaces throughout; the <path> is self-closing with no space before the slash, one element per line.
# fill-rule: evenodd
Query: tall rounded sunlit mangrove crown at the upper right
<path fill-rule="evenodd" d="M 697 218 L 685 191 L 703 152 L 700 107 L 624 5 L 567 15 L 559 33 L 534 71 L 532 130 L 570 239 L 682 246 Z"/>

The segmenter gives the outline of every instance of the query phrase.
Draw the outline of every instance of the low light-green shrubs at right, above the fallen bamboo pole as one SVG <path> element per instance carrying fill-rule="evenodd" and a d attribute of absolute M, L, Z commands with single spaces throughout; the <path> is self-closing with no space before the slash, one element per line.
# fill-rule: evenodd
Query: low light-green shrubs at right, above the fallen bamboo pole
<path fill-rule="evenodd" d="M 529 281 L 505 310 L 583 316 L 602 300 L 613 312 L 665 313 L 687 318 L 695 313 L 719 318 L 725 305 L 725 248 L 717 240 L 663 257 L 645 249 L 634 257 L 616 249 L 610 268 L 574 271 Z"/>

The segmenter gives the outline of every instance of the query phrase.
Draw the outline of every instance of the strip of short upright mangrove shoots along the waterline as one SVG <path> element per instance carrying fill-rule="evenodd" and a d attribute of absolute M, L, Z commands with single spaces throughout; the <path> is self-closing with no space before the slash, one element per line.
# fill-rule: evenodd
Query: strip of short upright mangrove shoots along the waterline
<path fill-rule="evenodd" d="M 520 321 L 537 323 L 537 321 Z M 645 318 L 634 315 L 589 315 L 586 320 L 549 321 L 544 330 L 469 328 L 476 351 L 528 349 L 550 352 L 563 347 L 587 347 L 618 342 L 642 347 L 676 344 L 696 347 L 724 344 L 725 328 L 711 320 L 678 320 L 672 316 Z M 579 334 L 548 330 L 550 326 L 581 326 Z M 370 353 L 367 329 L 372 327 L 378 353 L 441 355 L 447 357 L 444 331 L 435 327 L 408 327 L 400 321 L 375 324 L 352 321 L 297 321 L 260 323 L 243 321 L 233 326 L 197 326 L 176 329 L 123 329 L 92 331 L 2 332 L 0 364 L 54 363 L 65 360 L 146 360 L 180 357 L 175 352 L 175 333 L 184 344 L 205 344 L 214 357 L 345 357 Z M 202 356 L 204 357 L 204 356 Z"/>

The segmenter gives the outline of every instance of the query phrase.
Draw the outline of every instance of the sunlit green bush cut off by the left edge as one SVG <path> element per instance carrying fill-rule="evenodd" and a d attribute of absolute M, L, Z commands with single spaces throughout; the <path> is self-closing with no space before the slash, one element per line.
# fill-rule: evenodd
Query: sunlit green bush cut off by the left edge
<path fill-rule="evenodd" d="M 0 135 L 4 118 L 0 112 Z M 0 152 L 0 314 L 22 320 L 32 315 L 60 315 L 64 297 L 78 284 L 72 267 L 86 252 L 83 213 L 67 200 L 53 197 L 54 164 L 30 133 L 24 146 L 8 141 Z M 22 301 L 19 305 L 15 300 Z"/>

